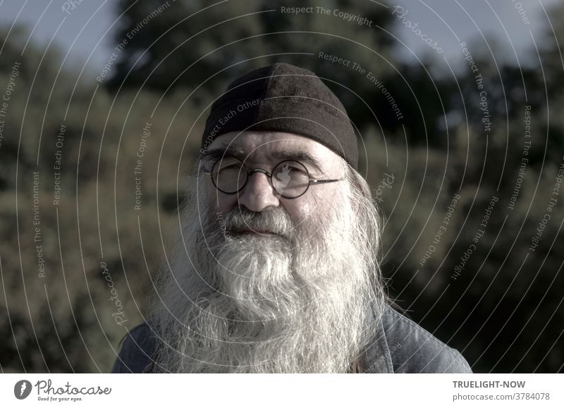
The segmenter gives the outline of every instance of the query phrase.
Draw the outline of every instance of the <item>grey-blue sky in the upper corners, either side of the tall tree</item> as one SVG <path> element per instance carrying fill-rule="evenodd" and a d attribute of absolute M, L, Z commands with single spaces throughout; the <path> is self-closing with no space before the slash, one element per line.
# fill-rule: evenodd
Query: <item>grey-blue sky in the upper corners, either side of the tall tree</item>
<path fill-rule="evenodd" d="M 393 27 L 394 35 L 405 43 L 405 47 L 398 43 L 398 55 L 401 58 L 413 60 L 411 51 L 419 57 L 426 54 L 438 56 L 406 26 L 405 21 L 409 20 L 412 24 L 417 23 L 425 38 L 440 44 L 444 49 L 440 57 L 447 58 L 456 68 L 463 62 L 459 42 L 480 41 L 482 36 L 489 40 L 488 44 L 496 58 L 505 58 L 512 63 L 516 63 L 517 58 L 520 63 L 534 61 L 534 54 L 530 54 L 534 49 L 532 38 L 537 45 L 542 44 L 548 27 L 543 8 L 548 12 L 548 8 L 558 1 L 401 0 L 389 5 L 390 11 L 394 6 L 401 6 L 408 11 L 403 20 L 396 18 Z M 63 55 L 66 55 L 65 66 L 82 68 L 86 65 L 87 70 L 97 72 L 115 47 L 113 33 L 119 24 L 115 8 L 117 1 L 82 0 L 75 10 L 69 10 L 68 13 L 63 11 L 65 3 L 63 0 L 0 0 L 0 26 L 9 28 L 15 22 L 23 23 L 33 30 L 30 41 L 42 47 L 52 41 L 63 51 Z M 283 1 L 280 4 L 283 5 Z M 320 1 L 320 4 L 323 2 Z M 528 24 L 523 22 L 524 16 Z M 490 42 L 491 39 L 494 42 Z M 488 51 L 483 40 L 479 48 Z"/>

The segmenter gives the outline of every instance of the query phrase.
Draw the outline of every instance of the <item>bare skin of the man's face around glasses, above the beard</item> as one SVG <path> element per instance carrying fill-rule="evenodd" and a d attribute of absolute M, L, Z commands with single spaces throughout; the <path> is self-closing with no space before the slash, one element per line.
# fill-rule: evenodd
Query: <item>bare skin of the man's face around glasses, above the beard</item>
<path fill-rule="evenodd" d="M 302 163 L 314 179 L 342 178 L 345 172 L 342 159 L 324 145 L 287 132 L 229 132 L 217 137 L 208 151 L 225 152 L 236 150 L 238 159 L 243 161 L 249 171 L 262 168 L 269 173 L 283 160 L 296 160 Z M 231 156 L 231 153 L 226 156 Z M 214 160 L 204 166 L 208 169 Z M 338 194 L 339 183 L 311 185 L 301 197 L 288 199 L 277 194 L 264 173 L 250 175 L 247 184 L 237 194 L 225 194 L 217 190 L 208 180 L 207 199 L 215 204 L 217 211 L 227 214 L 237 207 L 246 207 L 254 212 L 268 211 L 281 207 L 298 227 L 301 223 L 312 222 L 319 214 L 328 214 L 333 197 Z"/>

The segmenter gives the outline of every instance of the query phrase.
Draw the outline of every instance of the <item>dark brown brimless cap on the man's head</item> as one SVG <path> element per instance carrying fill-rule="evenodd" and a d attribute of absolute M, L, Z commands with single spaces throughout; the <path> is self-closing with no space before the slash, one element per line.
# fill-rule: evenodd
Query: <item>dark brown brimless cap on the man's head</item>
<path fill-rule="evenodd" d="M 212 104 L 202 150 L 223 133 L 243 130 L 309 137 L 357 168 L 357 138 L 345 108 L 310 70 L 275 63 L 233 80 Z"/>

